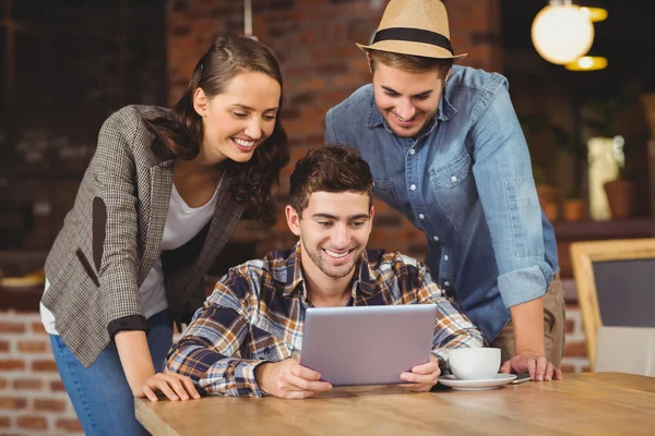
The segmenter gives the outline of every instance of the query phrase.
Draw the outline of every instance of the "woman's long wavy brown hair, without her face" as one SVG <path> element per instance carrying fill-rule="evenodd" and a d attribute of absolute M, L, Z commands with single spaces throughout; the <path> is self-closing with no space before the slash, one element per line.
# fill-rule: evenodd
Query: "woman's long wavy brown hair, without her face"
<path fill-rule="evenodd" d="M 184 160 L 196 157 L 204 130 L 202 118 L 193 108 L 195 89 L 200 87 L 209 98 L 213 98 L 223 94 L 229 81 L 246 71 L 266 74 L 283 88 L 279 65 L 271 49 L 248 37 L 218 38 L 198 61 L 187 92 L 175 106 L 172 114 L 146 121 L 158 138 L 153 144 L 157 156 Z M 282 94 L 278 107 L 279 113 Z M 231 195 L 237 203 L 270 222 L 275 219 L 271 186 L 279 181 L 279 170 L 288 162 L 287 136 L 277 117 L 273 133 L 257 147 L 248 162 L 227 159 L 221 167 L 223 177 L 230 181 Z"/>

